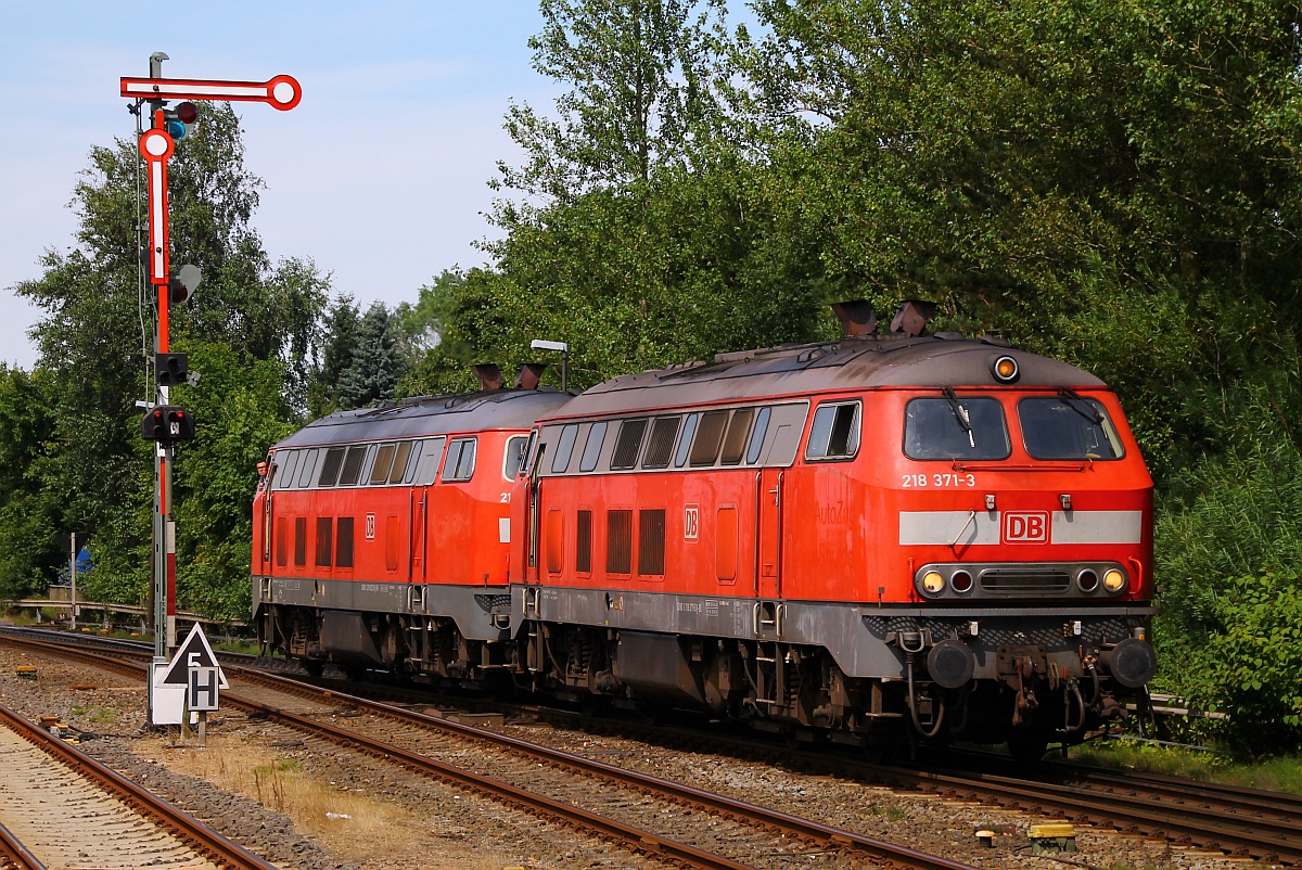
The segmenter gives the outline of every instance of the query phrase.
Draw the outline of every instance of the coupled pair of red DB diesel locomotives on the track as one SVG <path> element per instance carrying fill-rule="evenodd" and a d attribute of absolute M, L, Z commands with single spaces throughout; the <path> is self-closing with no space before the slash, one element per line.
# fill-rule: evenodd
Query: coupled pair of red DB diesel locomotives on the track
<path fill-rule="evenodd" d="M 259 494 L 263 641 L 846 741 L 1036 754 L 1121 715 L 1156 668 L 1152 482 L 1113 393 L 993 340 L 844 319 L 863 335 L 309 426 L 271 466 L 357 451 L 357 474 Z M 398 475 L 443 432 L 491 458 L 460 484 L 450 449 Z M 380 518 L 349 569 L 306 540 Z"/>

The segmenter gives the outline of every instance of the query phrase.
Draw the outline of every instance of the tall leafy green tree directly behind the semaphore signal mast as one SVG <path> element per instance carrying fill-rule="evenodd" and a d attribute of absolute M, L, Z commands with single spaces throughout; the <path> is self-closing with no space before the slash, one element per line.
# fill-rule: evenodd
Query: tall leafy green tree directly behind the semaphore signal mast
<path fill-rule="evenodd" d="M 43 498 L 70 505 L 64 525 L 95 533 L 100 587 L 87 591 L 126 602 L 145 598 L 152 564 L 151 445 L 139 438 L 135 408 L 154 397 L 155 298 L 137 236 L 141 163 L 133 141 L 92 148 L 73 193 L 76 245 L 47 251 L 42 277 L 13 288 L 44 311 L 33 330 L 36 369 L 60 384 L 52 404 L 57 449 L 42 471 Z M 234 112 L 201 105 L 195 132 L 169 163 L 169 229 L 172 262 L 199 266 L 204 280 L 189 303 L 172 309 L 172 348 L 220 343 L 249 371 L 275 367 L 281 380 L 271 392 L 280 402 L 281 391 L 301 392 L 288 363 L 315 353 L 328 283 L 310 260 L 270 264 L 250 224 L 260 186 L 243 165 Z M 199 365 L 191 370 L 204 374 Z M 197 444 L 191 456 L 204 449 Z"/>

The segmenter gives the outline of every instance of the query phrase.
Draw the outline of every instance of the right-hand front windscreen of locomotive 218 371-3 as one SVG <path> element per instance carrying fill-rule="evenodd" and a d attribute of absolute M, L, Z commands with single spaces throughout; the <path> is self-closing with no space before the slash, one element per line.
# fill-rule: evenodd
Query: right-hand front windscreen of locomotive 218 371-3
<path fill-rule="evenodd" d="M 1026 452 L 1038 460 L 1118 460 L 1121 438 L 1103 405 L 1074 392 L 1017 404 Z"/>

